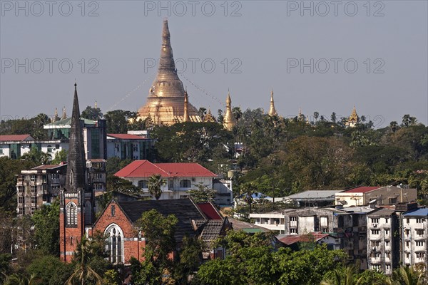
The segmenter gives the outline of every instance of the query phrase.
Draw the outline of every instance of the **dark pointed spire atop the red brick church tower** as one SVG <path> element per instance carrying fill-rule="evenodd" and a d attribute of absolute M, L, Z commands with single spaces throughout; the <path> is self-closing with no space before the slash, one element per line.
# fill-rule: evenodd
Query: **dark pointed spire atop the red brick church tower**
<path fill-rule="evenodd" d="M 83 133 L 78 108 L 77 84 L 74 83 L 73 112 L 69 136 L 66 191 L 77 192 L 86 187 L 86 160 L 83 147 Z"/>

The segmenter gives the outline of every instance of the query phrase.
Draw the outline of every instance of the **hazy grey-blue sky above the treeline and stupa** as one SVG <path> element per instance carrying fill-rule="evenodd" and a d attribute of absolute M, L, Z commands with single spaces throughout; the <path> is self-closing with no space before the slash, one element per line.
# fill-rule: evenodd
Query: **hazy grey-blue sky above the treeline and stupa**
<path fill-rule="evenodd" d="M 190 103 L 428 123 L 427 1 L 0 1 L 0 117 L 137 110 L 168 16 Z M 70 66 L 72 65 L 72 67 Z"/>

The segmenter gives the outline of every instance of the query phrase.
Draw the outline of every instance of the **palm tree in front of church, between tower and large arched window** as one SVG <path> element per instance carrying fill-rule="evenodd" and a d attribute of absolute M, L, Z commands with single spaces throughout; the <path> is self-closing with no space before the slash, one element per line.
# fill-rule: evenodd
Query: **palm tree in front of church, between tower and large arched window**
<path fill-rule="evenodd" d="M 88 265 L 95 251 L 95 241 L 87 239 L 85 236 L 82 237 L 81 242 L 74 252 L 74 259 L 77 261 L 76 270 L 67 279 L 66 285 L 75 284 L 74 281 L 77 279 L 81 285 L 85 284 L 85 280 L 93 278 L 96 281 L 96 285 L 101 285 L 103 279 L 99 276 L 96 271 L 93 271 Z"/>

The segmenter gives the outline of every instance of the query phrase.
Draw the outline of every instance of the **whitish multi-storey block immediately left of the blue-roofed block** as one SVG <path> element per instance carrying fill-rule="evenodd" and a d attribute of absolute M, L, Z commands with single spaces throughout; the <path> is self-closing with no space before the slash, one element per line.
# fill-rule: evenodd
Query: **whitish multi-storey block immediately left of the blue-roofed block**
<path fill-rule="evenodd" d="M 367 214 L 369 269 L 390 275 L 399 266 L 399 217 L 394 209 L 379 208 Z"/>

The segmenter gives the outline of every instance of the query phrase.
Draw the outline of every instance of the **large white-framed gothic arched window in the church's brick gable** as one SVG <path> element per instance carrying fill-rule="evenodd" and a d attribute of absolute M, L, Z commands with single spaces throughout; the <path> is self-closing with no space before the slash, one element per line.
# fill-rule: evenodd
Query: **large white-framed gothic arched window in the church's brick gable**
<path fill-rule="evenodd" d="M 111 224 L 104 233 L 107 237 L 108 261 L 113 264 L 123 263 L 123 231 L 117 224 Z"/>

